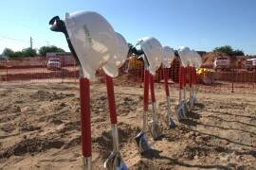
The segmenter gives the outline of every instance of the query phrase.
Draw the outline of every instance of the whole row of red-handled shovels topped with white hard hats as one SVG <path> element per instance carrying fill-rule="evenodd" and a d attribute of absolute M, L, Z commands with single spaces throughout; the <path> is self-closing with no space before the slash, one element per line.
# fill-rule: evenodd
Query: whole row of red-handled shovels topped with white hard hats
<path fill-rule="evenodd" d="M 164 85 L 167 97 L 166 124 L 170 128 L 175 127 L 171 118 L 171 99 L 168 86 L 167 68 L 171 66 L 174 59 L 174 50 L 169 46 L 162 46 L 153 37 L 146 37 L 137 41 L 136 45 L 128 46 L 122 35 L 117 33 L 113 27 L 99 14 L 91 11 L 77 11 L 67 13 L 65 20 L 58 16 L 53 17 L 50 29 L 64 33 L 69 49 L 80 65 L 80 95 L 81 95 L 81 126 L 82 126 L 82 157 L 84 169 L 92 169 L 91 148 L 91 110 L 90 110 L 90 80 L 96 71 L 102 68 L 105 72 L 108 107 L 113 137 L 113 151 L 104 162 L 107 169 L 127 169 L 119 152 L 118 118 L 114 95 L 113 77 L 119 75 L 119 67 L 128 56 L 136 54 L 138 59 L 144 61 L 144 98 L 143 98 L 143 126 L 135 137 L 140 154 L 151 150 L 145 133 L 147 127 L 154 140 L 161 135 L 161 129 L 155 116 L 155 71 L 163 65 Z M 200 57 L 188 47 L 180 47 L 177 50 L 181 64 L 179 69 L 179 103 L 175 108 L 178 121 L 187 118 L 187 112 L 195 97 L 195 68 L 200 67 Z M 190 100 L 189 105 L 185 96 L 187 77 L 185 71 L 189 71 Z M 152 99 L 152 121 L 148 123 L 149 91 Z M 190 106 L 190 107 L 189 107 Z"/>

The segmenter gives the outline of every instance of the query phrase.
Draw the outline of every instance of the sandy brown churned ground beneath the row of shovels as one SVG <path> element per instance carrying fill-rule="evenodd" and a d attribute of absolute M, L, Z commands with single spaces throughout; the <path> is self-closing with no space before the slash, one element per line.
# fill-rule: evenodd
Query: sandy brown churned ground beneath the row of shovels
<path fill-rule="evenodd" d="M 126 85 L 126 86 L 125 86 Z M 79 87 L 75 83 L 0 84 L 0 169 L 82 169 Z M 169 130 L 162 84 L 155 88 L 163 128 L 140 157 L 140 85 L 115 87 L 123 160 L 130 169 L 256 169 L 256 93 L 198 93 L 190 120 Z M 91 86 L 94 169 L 112 149 L 104 84 Z M 171 91 L 172 110 L 177 92 Z"/>

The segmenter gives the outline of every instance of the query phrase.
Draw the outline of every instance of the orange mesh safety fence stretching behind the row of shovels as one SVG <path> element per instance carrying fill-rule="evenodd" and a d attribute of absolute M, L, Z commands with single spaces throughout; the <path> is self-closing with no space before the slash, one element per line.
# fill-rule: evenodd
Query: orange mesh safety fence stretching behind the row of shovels
<path fill-rule="evenodd" d="M 76 82 L 79 78 L 79 67 L 75 59 L 61 59 L 62 68 L 49 70 L 45 57 L 0 59 L 0 81 L 29 80 L 35 82 Z M 178 87 L 179 59 L 174 59 L 171 68 L 168 69 L 169 84 Z M 134 77 L 137 83 L 143 81 L 143 61 L 130 58 L 119 69 L 119 75 L 128 74 Z M 102 71 L 97 76 L 103 76 Z M 187 72 L 187 81 L 189 81 Z M 128 80 L 127 80 L 128 81 Z M 163 72 L 160 67 L 155 73 L 155 82 L 163 83 Z M 256 68 L 250 71 L 246 69 L 230 69 L 230 71 L 214 71 L 212 69 L 197 70 L 198 91 L 206 93 L 218 92 L 255 92 Z M 187 85 L 187 87 L 189 87 Z"/>

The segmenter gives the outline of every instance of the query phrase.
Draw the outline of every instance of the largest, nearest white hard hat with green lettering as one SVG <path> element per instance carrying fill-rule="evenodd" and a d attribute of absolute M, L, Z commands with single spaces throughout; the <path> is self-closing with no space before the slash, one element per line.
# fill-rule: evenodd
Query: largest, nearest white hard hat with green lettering
<path fill-rule="evenodd" d="M 91 11 L 66 13 L 65 26 L 82 74 L 89 79 L 94 77 L 96 70 L 116 55 L 114 29 L 100 14 Z"/>

